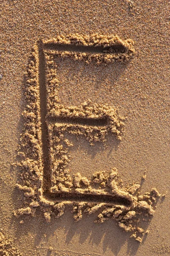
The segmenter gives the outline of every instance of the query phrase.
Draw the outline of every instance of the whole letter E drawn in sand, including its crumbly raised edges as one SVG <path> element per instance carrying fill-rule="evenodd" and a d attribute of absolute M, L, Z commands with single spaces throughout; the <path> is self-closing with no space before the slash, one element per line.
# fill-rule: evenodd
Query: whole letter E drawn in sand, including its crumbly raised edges
<path fill-rule="evenodd" d="M 114 219 L 122 229 L 133 232 L 137 241 L 142 241 L 145 230 L 139 227 L 139 220 L 154 214 L 153 204 L 159 196 L 156 189 L 139 195 L 139 184 L 119 184 L 116 168 L 110 173 L 95 172 L 91 179 L 80 173 L 71 175 L 67 169 L 72 143 L 65 134 L 85 137 L 91 144 L 105 142 L 108 133 L 121 141 L 123 118 L 116 108 L 90 100 L 79 106 L 62 105 L 55 67 L 57 58 L 107 65 L 127 61 L 133 53 L 132 40 L 113 35 L 58 36 L 34 45 L 27 68 L 28 104 L 23 113 L 17 183 L 24 192 L 26 207 L 18 209 L 15 215 L 34 215 L 40 207 L 49 222 L 51 215 L 61 216 L 70 205 L 76 221 L 83 212 L 98 211 L 96 223 Z"/>

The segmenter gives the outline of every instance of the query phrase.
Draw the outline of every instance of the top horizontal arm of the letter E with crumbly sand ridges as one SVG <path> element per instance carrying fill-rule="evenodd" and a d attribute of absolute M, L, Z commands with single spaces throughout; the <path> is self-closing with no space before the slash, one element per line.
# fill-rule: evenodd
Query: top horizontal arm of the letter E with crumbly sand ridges
<path fill-rule="evenodd" d="M 65 45 L 65 50 L 57 50 L 55 54 L 62 58 L 73 58 L 74 60 L 84 60 L 87 64 L 91 63 L 92 60 L 96 61 L 97 64 L 101 63 L 112 63 L 114 61 L 127 61 L 135 53 L 133 47 L 133 40 L 123 40 L 117 35 L 59 35 L 51 40 L 43 41 L 44 49 L 55 49 L 57 45 Z M 79 47 L 94 47 L 99 48 L 98 53 L 94 52 L 75 52 L 69 50 L 69 46 L 75 45 L 77 49 Z M 67 49 L 68 47 L 68 49 Z M 85 48 L 86 49 L 86 48 Z M 51 53 L 54 51 L 50 51 Z"/>

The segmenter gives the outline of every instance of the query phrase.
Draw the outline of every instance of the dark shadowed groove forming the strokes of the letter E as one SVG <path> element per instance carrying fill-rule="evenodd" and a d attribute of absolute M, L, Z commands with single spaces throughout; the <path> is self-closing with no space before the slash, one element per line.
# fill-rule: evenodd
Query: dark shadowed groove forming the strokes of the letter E
<path fill-rule="evenodd" d="M 49 168 L 49 150 L 48 150 L 48 125 L 45 121 L 45 117 L 47 116 L 47 92 L 45 85 L 45 55 L 43 52 L 43 48 L 46 48 L 48 45 L 45 44 L 43 47 L 42 41 L 38 43 L 39 49 L 39 85 L 40 85 L 40 116 L 41 116 L 41 126 L 42 126 L 42 153 L 43 153 L 43 185 L 44 186 L 44 196 L 54 198 L 55 201 L 86 201 L 86 202 L 103 202 L 103 203 L 112 203 L 112 204 L 124 204 L 129 205 L 130 202 L 121 197 L 116 197 L 112 195 L 96 195 L 96 194 L 77 194 L 77 193 L 66 193 L 60 192 L 58 194 L 54 194 L 49 192 L 50 188 L 50 168 Z M 52 44 L 54 46 L 54 44 Z M 61 48 L 65 47 L 65 45 L 60 45 Z M 58 47 L 58 46 L 57 46 Z M 77 51 L 86 50 L 91 52 L 91 50 L 103 49 L 103 47 L 86 47 L 80 46 L 77 47 L 75 45 L 69 45 L 71 49 L 77 49 Z M 68 48 L 69 48 L 68 47 Z M 60 48 L 60 49 L 61 49 Z M 70 50 L 70 48 L 69 48 Z M 52 123 L 67 123 L 67 124 L 75 124 L 75 125 L 91 125 L 91 126 L 105 126 L 107 125 L 106 118 L 83 118 L 83 117 L 74 117 L 74 118 L 65 118 L 61 116 L 57 117 L 48 117 L 48 121 Z M 47 189 L 48 188 L 48 189 Z"/>

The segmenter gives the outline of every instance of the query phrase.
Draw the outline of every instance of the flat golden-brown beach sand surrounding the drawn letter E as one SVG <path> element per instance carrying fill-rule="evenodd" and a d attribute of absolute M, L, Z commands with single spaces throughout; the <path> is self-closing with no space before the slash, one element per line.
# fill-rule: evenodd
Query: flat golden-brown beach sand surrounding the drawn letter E
<path fill-rule="evenodd" d="M 167 0 L 0 1 L 0 230 L 4 236 L 0 242 L 3 250 L 13 253 L 9 255 L 19 255 L 17 250 L 23 256 L 170 254 L 169 7 Z M 140 183 L 146 173 L 141 192 L 156 188 L 166 194 L 146 224 L 150 232 L 142 243 L 131 239 L 114 220 L 94 223 L 97 213 L 75 222 L 71 207 L 50 223 L 40 209 L 34 217 L 14 216 L 24 207 L 13 163 L 24 122 L 28 58 L 37 40 L 74 33 L 113 34 L 135 42 L 136 52 L 127 62 L 97 66 L 58 59 L 57 79 L 63 105 L 77 106 L 91 99 L 116 107 L 126 118 L 120 142 L 108 135 L 105 145 L 91 146 L 84 137 L 71 138 L 71 174 L 91 177 L 96 170 L 109 172 L 116 167 L 128 184 Z"/>

